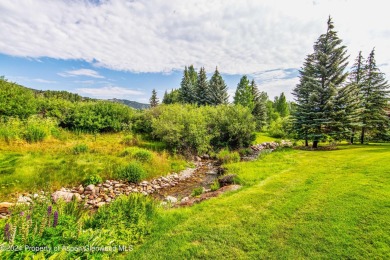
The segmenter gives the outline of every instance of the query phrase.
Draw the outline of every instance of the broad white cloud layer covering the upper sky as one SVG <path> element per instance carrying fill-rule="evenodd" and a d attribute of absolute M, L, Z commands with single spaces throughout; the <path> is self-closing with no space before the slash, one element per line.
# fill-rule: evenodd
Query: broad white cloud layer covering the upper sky
<path fill-rule="evenodd" d="M 390 64 L 387 7 L 381 0 L 5 0 L 0 53 L 131 72 L 169 73 L 188 64 L 255 77 L 267 71 L 271 89 L 287 94 L 288 79 L 282 84 L 283 76 L 272 74 L 280 72 L 269 71 L 301 67 L 329 14 L 351 61 L 375 46 L 378 64 Z M 88 71 L 63 75 L 103 77 Z"/>

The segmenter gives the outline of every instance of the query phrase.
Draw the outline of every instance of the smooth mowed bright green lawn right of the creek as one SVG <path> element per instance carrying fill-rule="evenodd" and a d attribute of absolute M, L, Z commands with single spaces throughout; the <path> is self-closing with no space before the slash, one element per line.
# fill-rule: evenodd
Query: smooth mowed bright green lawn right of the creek
<path fill-rule="evenodd" d="M 131 259 L 390 259 L 390 145 L 228 165 L 244 188 L 162 210 Z"/>

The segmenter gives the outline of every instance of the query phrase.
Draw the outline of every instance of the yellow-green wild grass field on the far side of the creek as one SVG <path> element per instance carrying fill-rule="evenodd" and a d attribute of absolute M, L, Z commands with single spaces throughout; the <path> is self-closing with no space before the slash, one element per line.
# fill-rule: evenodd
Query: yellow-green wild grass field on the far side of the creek
<path fill-rule="evenodd" d="M 91 175 L 115 178 L 118 167 L 136 160 L 124 151 L 145 147 L 151 160 L 142 162 L 146 178 L 166 175 L 186 167 L 179 156 L 161 151 L 159 143 L 140 141 L 138 146 L 123 144 L 125 134 L 77 135 L 64 132 L 63 138 L 48 138 L 39 143 L 0 141 L 0 201 L 12 199 L 16 192 L 55 190 L 80 184 Z M 76 150 L 82 146 L 86 150 Z M 156 149 L 154 149 L 156 148 Z M 156 150 L 156 151 L 153 151 Z"/>

